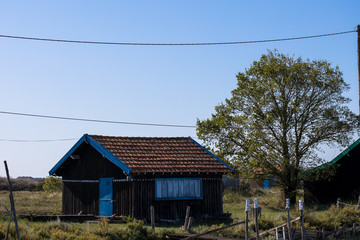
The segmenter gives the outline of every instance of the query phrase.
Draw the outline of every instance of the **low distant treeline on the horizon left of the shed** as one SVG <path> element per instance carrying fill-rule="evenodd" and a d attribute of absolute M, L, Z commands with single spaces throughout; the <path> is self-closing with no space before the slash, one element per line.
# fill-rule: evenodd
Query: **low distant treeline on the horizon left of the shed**
<path fill-rule="evenodd" d="M 11 179 L 13 191 L 43 191 L 44 179 L 31 177 L 18 177 Z M 5 177 L 0 177 L 0 190 L 9 190 Z"/>

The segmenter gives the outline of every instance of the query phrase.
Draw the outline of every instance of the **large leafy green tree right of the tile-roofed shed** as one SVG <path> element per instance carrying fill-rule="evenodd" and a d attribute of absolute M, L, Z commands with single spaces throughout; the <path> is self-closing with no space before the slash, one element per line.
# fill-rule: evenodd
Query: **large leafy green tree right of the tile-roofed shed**
<path fill-rule="evenodd" d="M 295 203 L 301 171 L 323 160 L 323 144 L 346 145 L 356 116 L 338 67 L 269 51 L 237 74 L 230 99 L 197 120 L 197 135 L 243 176 L 276 179 Z"/>

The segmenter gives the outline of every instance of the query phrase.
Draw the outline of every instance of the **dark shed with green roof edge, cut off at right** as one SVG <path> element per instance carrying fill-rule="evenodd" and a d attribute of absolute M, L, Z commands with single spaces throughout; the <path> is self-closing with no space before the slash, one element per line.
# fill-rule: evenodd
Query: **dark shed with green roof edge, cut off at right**
<path fill-rule="evenodd" d="M 326 167 L 332 167 L 335 174 L 318 181 L 305 181 L 305 202 L 335 204 L 338 198 L 357 201 L 360 195 L 360 139 L 332 161 L 310 170 L 308 174 L 316 174 Z"/>

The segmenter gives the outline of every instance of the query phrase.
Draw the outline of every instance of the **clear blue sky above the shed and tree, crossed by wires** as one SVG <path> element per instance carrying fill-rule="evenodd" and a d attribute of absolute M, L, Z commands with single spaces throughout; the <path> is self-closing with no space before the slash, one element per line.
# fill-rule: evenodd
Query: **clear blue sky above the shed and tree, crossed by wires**
<path fill-rule="evenodd" d="M 69 40 L 188 43 L 355 30 L 360 1 L 2 1 L 0 34 Z M 103 46 L 0 38 L 0 111 L 195 125 L 230 97 L 235 75 L 267 50 L 326 59 L 358 113 L 356 33 L 227 46 Z M 0 114 L 0 139 L 191 136 L 195 128 L 73 122 Z M 10 174 L 47 176 L 76 140 L 0 141 Z M 334 157 L 330 154 L 329 158 Z M 331 159 L 328 159 L 331 160 Z M 4 168 L 0 165 L 0 176 Z"/>

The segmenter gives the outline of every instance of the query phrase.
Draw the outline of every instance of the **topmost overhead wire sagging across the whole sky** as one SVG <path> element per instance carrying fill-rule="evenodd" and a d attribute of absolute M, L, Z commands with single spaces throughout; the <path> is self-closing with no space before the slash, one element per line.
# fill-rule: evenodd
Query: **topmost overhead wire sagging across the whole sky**
<path fill-rule="evenodd" d="M 33 40 L 33 41 L 46 41 L 46 42 L 62 42 L 62 43 L 81 43 L 81 44 L 98 44 L 98 45 L 124 45 L 124 46 L 208 46 L 208 45 L 235 45 L 235 44 L 250 44 L 250 43 L 267 43 L 267 42 L 280 42 L 290 40 L 301 40 L 309 38 L 330 37 L 335 35 L 343 35 L 356 32 L 356 30 L 326 33 L 302 37 L 289 37 L 277 38 L 266 40 L 251 40 L 251 41 L 232 41 L 232 42 L 199 42 L 199 43 L 137 43 L 137 42 L 102 42 L 102 41 L 84 41 L 84 40 L 68 40 L 68 39 L 53 39 L 53 38 L 39 38 L 39 37 L 24 37 L 14 35 L 0 35 L 2 38 Z"/>

